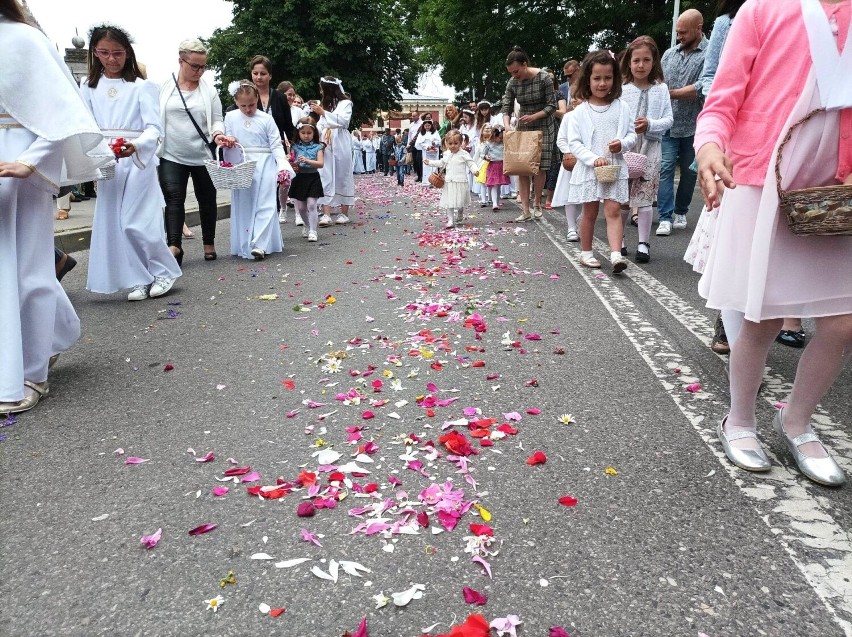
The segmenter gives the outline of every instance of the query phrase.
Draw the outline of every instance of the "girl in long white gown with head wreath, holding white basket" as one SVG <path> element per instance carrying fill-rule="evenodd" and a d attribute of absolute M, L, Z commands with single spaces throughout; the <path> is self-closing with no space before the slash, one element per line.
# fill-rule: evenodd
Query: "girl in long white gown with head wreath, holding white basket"
<path fill-rule="evenodd" d="M 225 160 L 232 164 L 257 162 L 251 188 L 231 191 L 231 254 L 244 259 L 263 260 L 281 252 L 281 228 L 275 211 L 278 183 L 296 173 L 287 161 L 281 134 L 272 116 L 257 110 L 257 87 L 248 80 L 228 87 L 239 110 L 225 115 L 225 134 L 216 143 L 225 146 Z M 242 146 L 242 152 L 235 148 Z"/>

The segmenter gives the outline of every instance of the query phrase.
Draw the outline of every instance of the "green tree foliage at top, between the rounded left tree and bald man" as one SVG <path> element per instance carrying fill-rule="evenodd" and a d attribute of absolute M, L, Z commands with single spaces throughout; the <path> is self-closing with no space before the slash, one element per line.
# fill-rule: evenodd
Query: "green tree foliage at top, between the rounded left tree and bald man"
<path fill-rule="evenodd" d="M 709 32 L 714 0 L 684 0 L 696 8 Z M 671 37 L 672 0 L 421 0 L 414 22 L 421 60 L 441 65 L 444 83 L 460 100 L 503 95 L 506 55 L 518 45 L 531 64 L 562 77 L 562 65 L 590 49 L 620 51 L 639 35 L 650 35 L 661 51 Z"/>

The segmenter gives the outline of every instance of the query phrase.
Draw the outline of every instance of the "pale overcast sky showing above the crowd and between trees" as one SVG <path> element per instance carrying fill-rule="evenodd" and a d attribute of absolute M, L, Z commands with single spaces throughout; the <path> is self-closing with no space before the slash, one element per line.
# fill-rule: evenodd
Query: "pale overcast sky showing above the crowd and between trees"
<path fill-rule="evenodd" d="M 60 51 L 72 46 L 75 31 L 87 39 L 94 24 L 112 22 L 127 29 L 135 40 L 137 58 L 147 65 L 148 75 L 155 81 L 163 81 L 177 70 L 181 40 L 208 37 L 214 29 L 228 26 L 232 17 L 232 5 L 226 0 L 27 0 L 27 4 Z M 345 83 L 346 78 L 343 80 Z M 418 92 L 453 97 L 452 89 L 435 73 L 422 78 Z"/>

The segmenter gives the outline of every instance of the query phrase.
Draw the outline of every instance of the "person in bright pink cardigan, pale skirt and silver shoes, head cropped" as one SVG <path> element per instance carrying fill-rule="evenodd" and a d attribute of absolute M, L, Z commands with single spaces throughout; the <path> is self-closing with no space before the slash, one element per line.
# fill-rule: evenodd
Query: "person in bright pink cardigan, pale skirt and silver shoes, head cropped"
<path fill-rule="evenodd" d="M 852 164 L 850 0 L 749 0 L 730 32 L 713 90 L 698 118 L 695 148 L 701 190 L 719 206 L 728 189 L 699 293 L 708 307 L 742 312 L 731 351 L 731 410 L 719 440 L 735 465 L 768 471 L 756 436 L 757 392 L 769 347 L 785 316 L 812 316 L 816 331 L 802 353 L 786 407 L 774 427 L 802 473 L 829 486 L 843 470 L 811 430 L 817 404 L 852 350 L 852 237 L 800 237 L 778 209 L 776 149 L 785 189 L 836 184 Z M 846 128 L 841 135 L 841 124 Z"/>

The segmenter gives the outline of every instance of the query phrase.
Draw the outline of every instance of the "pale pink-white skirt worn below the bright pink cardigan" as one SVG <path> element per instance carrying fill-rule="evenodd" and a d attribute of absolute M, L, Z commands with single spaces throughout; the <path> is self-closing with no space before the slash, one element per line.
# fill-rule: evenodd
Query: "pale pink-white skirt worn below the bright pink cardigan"
<path fill-rule="evenodd" d="M 782 135 L 819 103 L 813 72 Z M 819 114 L 784 148 L 785 188 L 836 183 L 839 112 Z M 725 191 L 698 292 L 707 306 L 750 321 L 852 314 L 852 236 L 797 236 L 778 209 L 775 157 L 764 186 Z M 792 181 L 788 184 L 787 181 Z"/>

